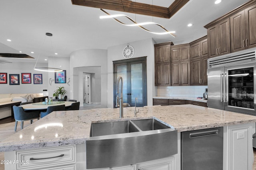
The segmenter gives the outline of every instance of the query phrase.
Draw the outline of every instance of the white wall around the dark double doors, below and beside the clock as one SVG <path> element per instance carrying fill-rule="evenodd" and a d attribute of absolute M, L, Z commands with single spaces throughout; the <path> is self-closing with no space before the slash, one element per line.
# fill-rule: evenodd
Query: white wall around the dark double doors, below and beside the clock
<path fill-rule="evenodd" d="M 141 41 L 127 42 L 134 47 L 134 56 L 147 56 L 147 103 L 153 104 L 153 96 L 156 96 L 156 87 L 154 86 L 154 40 L 144 39 Z M 113 107 L 113 62 L 124 59 L 122 51 L 127 44 L 116 45 L 108 48 L 108 107 Z"/>

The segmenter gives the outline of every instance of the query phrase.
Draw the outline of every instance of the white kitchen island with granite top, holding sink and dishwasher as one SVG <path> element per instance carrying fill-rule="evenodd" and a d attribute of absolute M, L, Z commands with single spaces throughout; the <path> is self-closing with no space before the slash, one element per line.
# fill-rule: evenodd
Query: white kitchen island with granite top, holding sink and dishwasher
<path fill-rule="evenodd" d="M 2 141 L 0 151 L 6 152 L 5 160 L 16 161 L 22 158 L 24 152 L 25 154 L 30 154 L 33 150 L 36 150 L 37 153 L 44 150 L 51 152 L 51 150 L 62 148 L 63 150 L 66 149 L 65 152 L 76 156 L 66 158 L 65 163 L 51 162 L 45 164 L 44 162 L 44 169 L 52 169 L 51 167 L 55 166 L 54 169 L 57 170 L 57 164 L 61 163 L 62 169 L 71 167 L 67 169 L 82 170 L 86 167 L 84 144 L 86 140 L 90 139 L 91 123 L 154 118 L 178 131 L 178 154 L 174 155 L 175 170 L 180 170 L 180 132 L 213 127 L 224 127 L 224 169 L 228 170 L 228 168 L 239 164 L 237 159 L 240 159 L 240 156 L 232 148 L 234 147 L 233 144 L 239 145 L 232 140 L 232 137 L 236 135 L 234 129 L 238 129 L 239 132 L 246 129 L 243 133 L 246 145 L 248 145 L 245 154 L 247 155 L 246 159 L 248 159 L 248 168 L 250 169 L 252 166 L 252 134 L 255 131 L 255 116 L 194 105 L 137 107 L 137 111 L 138 109 L 138 117 L 134 117 L 134 107 L 124 108 L 123 119 L 119 119 L 118 108 L 55 111 Z M 65 148 L 69 146 L 71 147 Z M 26 156 L 23 157 L 26 158 Z M 33 161 L 6 164 L 6 170 L 37 169 L 37 164 L 30 167 L 26 166 L 31 165 Z M 43 168 L 40 166 L 38 169 Z"/>

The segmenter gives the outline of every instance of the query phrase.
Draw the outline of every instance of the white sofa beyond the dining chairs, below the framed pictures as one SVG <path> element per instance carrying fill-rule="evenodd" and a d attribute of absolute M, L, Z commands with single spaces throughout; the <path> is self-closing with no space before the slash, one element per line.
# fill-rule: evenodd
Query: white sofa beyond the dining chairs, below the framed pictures
<path fill-rule="evenodd" d="M 32 100 L 32 102 L 36 98 L 43 97 L 43 93 L 36 94 L 0 94 L 0 119 L 5 117 L 9 117 L 12 115 L 12 106 L 19 105 L 20 102 L 29 102 L 28 100 Z"/>

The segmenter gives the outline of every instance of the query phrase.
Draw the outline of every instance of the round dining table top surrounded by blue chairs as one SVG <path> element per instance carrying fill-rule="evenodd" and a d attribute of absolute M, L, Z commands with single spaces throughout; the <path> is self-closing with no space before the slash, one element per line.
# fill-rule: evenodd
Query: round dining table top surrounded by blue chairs
<path fill-rule="evenodd" d="M 75 102 L 53 101 L 53 102 L 48 102 L 47 104 L 45 102 L 36 102 L 36 103 L 20 105 L 19 107 L 23 107 L 24 110 L 46 110 L 48 106 L 65 105 L 65 107 L 69 107 L 71 106 L 72 103 L 75 103 Z"/>

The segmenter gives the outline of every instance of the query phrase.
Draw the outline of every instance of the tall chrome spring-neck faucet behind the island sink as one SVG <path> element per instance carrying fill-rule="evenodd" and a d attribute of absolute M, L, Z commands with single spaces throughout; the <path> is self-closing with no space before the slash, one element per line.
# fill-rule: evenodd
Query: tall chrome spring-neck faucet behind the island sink
<path fill-rule="evenodd" d="M 121 95 L 119 98 L 119 82 L 121 80 Z M 120 107 L 120 118 L 124 118 L 124 106 L 130 106 L 128 103 L 123 103 L 123 78 L 120 76 L 116 82 L 116 107 Z"/>

